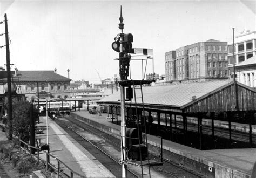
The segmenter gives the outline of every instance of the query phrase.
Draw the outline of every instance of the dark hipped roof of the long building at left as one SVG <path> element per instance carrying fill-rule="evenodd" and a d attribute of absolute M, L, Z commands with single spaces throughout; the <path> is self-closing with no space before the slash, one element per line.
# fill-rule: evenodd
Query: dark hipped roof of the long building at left
<path fill-rule="evenodd" d="M 6 71 L 2 72 L 2 81 L 6 81 Z M 11 71 L 12 76 L 14 71 Z M 17 77 L 12 81 L 71 81 L 71 79 L 61 76 L 54 71 L 17 71 Z"/>

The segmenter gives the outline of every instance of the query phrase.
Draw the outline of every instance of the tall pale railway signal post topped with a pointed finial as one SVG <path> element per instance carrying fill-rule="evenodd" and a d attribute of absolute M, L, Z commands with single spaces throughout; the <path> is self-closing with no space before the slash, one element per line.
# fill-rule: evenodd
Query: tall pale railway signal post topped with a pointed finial
<path fill-rule="evenodd" d="M 123 29 L 124 29 L 124 24 L 123 24 L 123 16 L 122 16 L 122 6 L 121 6 L 121 11 L 120 11 L 120 23 L 119 23 L 119 29 L 121 30 L 121 34 L 123 34 Z M 121 81 L 124 81 L 125 79 L 122 77 L 122 60 L 121 58 L 123 58 L 123 39 L 124 37 L 121 36 L 120 37 L 120 53 L 119 53 L 119 71 L 120 71 L 120 79 Z M 124 90 L 124 86 L 121 84 L 120 85 L 120 93 L 121 93 L 121 159 L 125 160 L 126 159 L 126 145 L 125 145 L 125 133 L 126 133 L 126 123 L 125 123 L 125 115 L 124 115 L 124 109 L 125 109 L 125 90 Z M 126 177 L 127 176 L 127 165 L 125 165 L 122 162 L 122 177 Z"/>

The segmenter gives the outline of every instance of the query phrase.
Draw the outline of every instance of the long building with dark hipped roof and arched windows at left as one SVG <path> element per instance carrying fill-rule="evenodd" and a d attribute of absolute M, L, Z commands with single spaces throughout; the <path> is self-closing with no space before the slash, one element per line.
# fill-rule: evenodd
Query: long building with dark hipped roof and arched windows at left
<path fill-rule="evenodd" d="M 11 81 L 16 84 L 18 94 L 25 94 L 27 100 L 35 98 L 70 98 L 71 79 L 56 71 L 11 71 Z M 7 83 L 6 71 L 0 71 L 0 94 L 4 94 Z"/>

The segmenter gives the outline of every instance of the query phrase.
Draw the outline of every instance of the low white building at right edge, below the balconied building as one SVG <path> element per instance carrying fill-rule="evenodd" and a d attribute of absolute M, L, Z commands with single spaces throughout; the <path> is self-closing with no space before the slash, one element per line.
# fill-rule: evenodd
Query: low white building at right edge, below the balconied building
<path fill-rule="evenodd" d="M 256 88 L 256 56 L 235 65 L 237 81 L 252 88 Z"/>

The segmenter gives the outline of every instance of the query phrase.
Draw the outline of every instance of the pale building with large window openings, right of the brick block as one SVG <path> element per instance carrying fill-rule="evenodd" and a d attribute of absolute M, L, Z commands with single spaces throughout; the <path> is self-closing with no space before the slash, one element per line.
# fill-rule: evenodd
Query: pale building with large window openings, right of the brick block
<path fill-rule="evenodd" d="M 255 56 L 256 51 L 256 31 L 244 30 L 240 35 L 234 38 L 234 56 L 235 64 L 246 61 Z M 233 40 L 228 43 L 228 69 L 230 74 L 233 73 Z"/>

